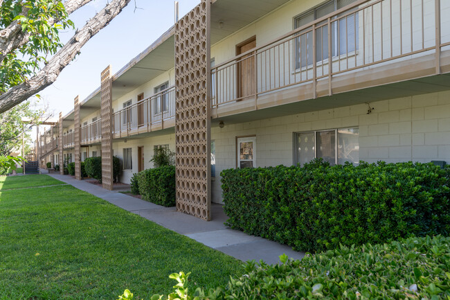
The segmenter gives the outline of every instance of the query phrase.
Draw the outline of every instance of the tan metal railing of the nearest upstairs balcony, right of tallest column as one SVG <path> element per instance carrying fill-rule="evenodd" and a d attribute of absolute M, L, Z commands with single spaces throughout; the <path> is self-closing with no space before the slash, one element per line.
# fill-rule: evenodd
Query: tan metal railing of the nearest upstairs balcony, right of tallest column
<path fill-rule="evenodd" d="M 211 69 L 212 106 L 255 99 L 450 45 L 449 0 L 359 0 Z M 330 62 L 331 58 L 331 62 Z M 326 82 L 326 81 L 325 81 Z"/>

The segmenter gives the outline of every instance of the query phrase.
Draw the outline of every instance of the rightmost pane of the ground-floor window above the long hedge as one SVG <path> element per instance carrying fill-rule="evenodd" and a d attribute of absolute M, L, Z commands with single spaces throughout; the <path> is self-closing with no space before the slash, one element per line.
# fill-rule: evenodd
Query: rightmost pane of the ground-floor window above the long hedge
<path fill-rule="evenodd" d="M 345 128 L 338 130 L 338 164 L 349 161 L 359 164 L 359 130 Z"/>

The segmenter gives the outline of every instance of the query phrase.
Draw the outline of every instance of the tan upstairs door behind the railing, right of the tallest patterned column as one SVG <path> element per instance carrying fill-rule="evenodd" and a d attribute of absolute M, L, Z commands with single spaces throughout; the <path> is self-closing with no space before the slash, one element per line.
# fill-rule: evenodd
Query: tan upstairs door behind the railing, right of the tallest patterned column
<path fill-rule="evenodd" d="M 256 37 L 251 37 L 241 44 L 236 46 L 236 55 L 246 53 L 251 49 L 256 48 Z M 238 98 L 246 98 L 247 96 L 255 94 L 255 57 L 252 53 L 240 58 L 237 64 L 237 92 Z"/>

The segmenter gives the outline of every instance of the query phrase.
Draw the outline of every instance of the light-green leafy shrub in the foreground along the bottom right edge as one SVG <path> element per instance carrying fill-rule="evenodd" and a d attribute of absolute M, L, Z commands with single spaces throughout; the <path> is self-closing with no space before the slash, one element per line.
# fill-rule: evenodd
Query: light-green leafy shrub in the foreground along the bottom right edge
<path fill-rule="evenodd" d="M 301 261 L 280 256 L 281 264 L 245 265 L 243 276 L 225 288 L 190 293 L 187 275 L 170 299 L 450 299 L 450 238 L 408 238 L 384 245 L 340 247 L 306 254 Z M 133 299 L 125 290 L 119 299 Z M 156 295 L 151 299 L 167 299 Z"/>

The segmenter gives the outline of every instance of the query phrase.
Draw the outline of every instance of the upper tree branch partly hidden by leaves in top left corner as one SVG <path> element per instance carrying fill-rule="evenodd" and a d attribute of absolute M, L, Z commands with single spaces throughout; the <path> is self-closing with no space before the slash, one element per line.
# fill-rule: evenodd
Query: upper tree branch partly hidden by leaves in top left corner
<path fill-rule="evenodd" d="M 3 1 L 3 0 L 1 0 Z M 70 15 L 78 8 L 81 8 L 85 4 L 92 0 L 66 0 L 64 7 L 66 8 L 67 15 Z M 21 15 L 26 15 L 28 8 L 22 10 Z M 48 19 L 48 25 L 52 26 L 58 20 L 55 18 Z M 23 46 L 30 39 L 31 33 L 21 30 L 21 24 L 19 21 L 12 21 L 11 24 L 3 30 L 0 30 L 0 62 L 3 62 L 5 56 L 14 51 L 15 49 Z"/>

